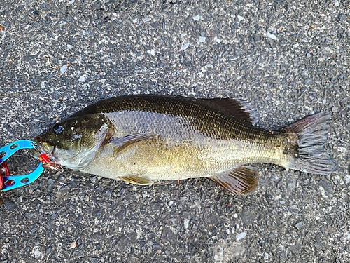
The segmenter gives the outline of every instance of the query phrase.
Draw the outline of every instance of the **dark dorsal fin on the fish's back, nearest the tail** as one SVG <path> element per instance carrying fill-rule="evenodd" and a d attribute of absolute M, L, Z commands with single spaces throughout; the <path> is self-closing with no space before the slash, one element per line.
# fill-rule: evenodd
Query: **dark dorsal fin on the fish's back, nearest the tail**
<path fill-rule="evenodd" d="M 214 99 L 200 99 L 204 104 L 209 107 L 217 109 L 224 114 L 227 114 L 238 121 L 244 123 L 255 123 L 253 118 L 253 110 L 248 107 L 246 102 L 239 102 L 232 98 L 214 98 Z"/>

